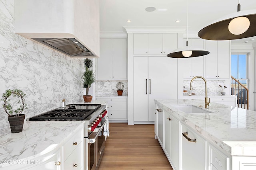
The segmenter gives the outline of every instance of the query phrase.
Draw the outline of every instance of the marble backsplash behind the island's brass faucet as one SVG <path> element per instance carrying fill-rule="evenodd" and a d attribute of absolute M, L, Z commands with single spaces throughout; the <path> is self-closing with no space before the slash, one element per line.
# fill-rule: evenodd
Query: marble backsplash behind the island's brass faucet
<path fill-rule="evenodd" d="M 184 80 L 183 86 L 188 89 L 188 92 L 193 92 L 196 96 L 205 96 L 205 83 L 204 80 L 197 78 L 193 81 L 194 90 L 190 90 L 190 80 Z M 226 95 L 230 95 L 230 80 L 207 80 L 207 92 L 208 96 L 220 96 L 220 86 L 226 86 Z"/>

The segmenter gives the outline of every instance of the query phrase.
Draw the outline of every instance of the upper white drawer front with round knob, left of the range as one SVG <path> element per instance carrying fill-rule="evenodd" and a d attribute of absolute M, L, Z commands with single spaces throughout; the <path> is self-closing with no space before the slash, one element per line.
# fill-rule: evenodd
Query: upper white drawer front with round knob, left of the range
<path fill-rule="evenodd" d="M 82 130 L 76 132 L 64 145 L 64 161 L 68 158 L 71 152 L 82 142 Z"/>

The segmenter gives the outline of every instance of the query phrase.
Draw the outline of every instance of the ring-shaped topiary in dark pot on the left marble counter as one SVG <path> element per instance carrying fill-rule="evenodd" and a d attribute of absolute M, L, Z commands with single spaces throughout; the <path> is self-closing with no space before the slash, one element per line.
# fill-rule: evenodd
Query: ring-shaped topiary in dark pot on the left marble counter
<path fill-rule="evenodd" d="M 13 111 L 12 106 L 10 104 L 10 97 L 20 97 L 20 100 L 16 102 L 13 102 L 13 104 L 16 103 L 17 109 Z M 25 115 L 21 114 L 24 109 L 27 109 L 26 104 L 24 103 L 24 94 L 22 90 L 14 89 L 14 90 L 6 90 L 5 93 L 2 96 L 2 101 L 4 101 L 3 107 L 5 112 L 8 114 L 8 121 L 10 123 L 10 128 L 12 133 L 19 133 L 22 132 L 23 124 Z M 20 105 L 20 106 L 18 106 Z M 16 113 L 16 114 L 14 114 Z"/>

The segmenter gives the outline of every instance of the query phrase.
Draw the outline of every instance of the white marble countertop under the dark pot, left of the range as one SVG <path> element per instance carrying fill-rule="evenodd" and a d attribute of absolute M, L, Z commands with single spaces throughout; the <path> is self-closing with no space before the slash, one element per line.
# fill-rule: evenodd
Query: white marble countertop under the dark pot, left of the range
<path fill-rule="evenodd" d="M 10 166 L 10 161 L 30 161 L 58 149 L 83 124 L 84 121 L 24 121 L 20 133 L 11 133 L 10 128 L 1 131 L 0 169 Z"/>

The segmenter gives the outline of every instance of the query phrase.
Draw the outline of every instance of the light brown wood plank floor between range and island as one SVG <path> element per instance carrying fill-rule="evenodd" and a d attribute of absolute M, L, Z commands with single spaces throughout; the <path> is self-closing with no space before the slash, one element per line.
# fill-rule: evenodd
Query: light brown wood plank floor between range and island
<path fill-rule="evenodd" d="M 154 139 L 154 125 L 110 123 L 110 137 L 98 170 L 172 170 Z"/>

